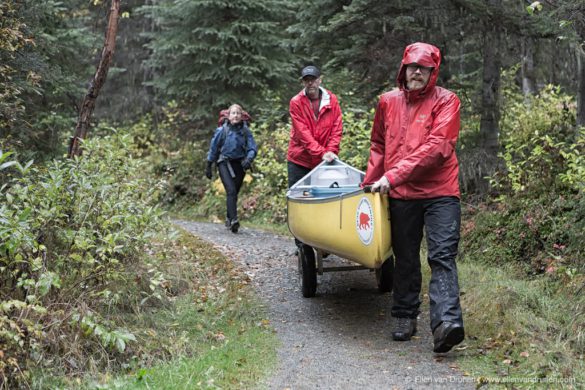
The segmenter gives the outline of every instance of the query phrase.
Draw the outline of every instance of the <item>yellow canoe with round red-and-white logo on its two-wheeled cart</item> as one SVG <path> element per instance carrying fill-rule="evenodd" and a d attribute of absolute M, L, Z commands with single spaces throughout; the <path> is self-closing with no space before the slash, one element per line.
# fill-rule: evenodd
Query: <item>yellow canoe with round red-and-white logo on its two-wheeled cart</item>
<path fill-rule="evenodd" d="M 304 297 L 315 296 L 317 274 L 332 271 L 375 270 L 378 290 L 392 290 L 388 197 L 360 188 L 363 179 L 364 172 L 335 159 L 319 164 L 287 192 L 288 228 L 305 244 L 298 250 Z M 324 267 L 328 254 L 357 264 Z"/>

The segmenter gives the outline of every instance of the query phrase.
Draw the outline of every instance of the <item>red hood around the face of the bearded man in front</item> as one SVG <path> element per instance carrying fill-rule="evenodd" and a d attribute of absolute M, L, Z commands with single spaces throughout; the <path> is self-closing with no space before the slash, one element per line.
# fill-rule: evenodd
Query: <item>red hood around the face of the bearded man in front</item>
<path fill-rule="evenodd" d="M 406 65 L 415 62 L 419 65 L 433 68 L 426 87 L 416 91 L 416 95 L 420 96 L 426 94 L 428 91 L 431 91 L 437 84 L 437 78 L 439 77 L 439 65 L 441 64 L 441 51 L 433 45 L 422 42 L 416 42 L 406 46 L 406 49 L 404 49 L 404 54 L 402 55 L 402 61 L 400 62 L 398 76 L 396 77 L 398 88 L 403 91 L 407 91 Z"/>

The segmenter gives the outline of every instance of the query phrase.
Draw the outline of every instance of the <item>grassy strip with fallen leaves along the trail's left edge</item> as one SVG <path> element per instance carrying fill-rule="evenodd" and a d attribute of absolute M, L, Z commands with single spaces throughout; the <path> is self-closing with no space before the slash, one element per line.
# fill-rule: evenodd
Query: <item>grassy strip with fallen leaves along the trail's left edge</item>
<path fill-rule="evenodd" d="M 124 318 L 138 339 L 126 372 L 63 385 L 242 389 L 257 387 L 273 369 L 278 341 L 248 277 L 188 234 L 163 253 L 175 297 Z"/>

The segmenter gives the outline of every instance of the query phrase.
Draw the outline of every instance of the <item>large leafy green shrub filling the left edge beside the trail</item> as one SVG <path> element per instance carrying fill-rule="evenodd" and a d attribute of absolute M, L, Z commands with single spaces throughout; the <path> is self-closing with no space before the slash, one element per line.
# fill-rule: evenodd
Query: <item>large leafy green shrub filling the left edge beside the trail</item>
<path fill-rule="evenodd" d="M 122 353 L 134 339 L 105 313 L 140 282 L 139 259 L 163 228 L 160 186 L 141 174 L 135 151 L 129 135 L 115 133 L 85 142 L 80 158 L 22 169 L 4 183 L 0 378 L 8 387 L 47 353 L 80 368 L 90 364 L 80 351 Z"/>

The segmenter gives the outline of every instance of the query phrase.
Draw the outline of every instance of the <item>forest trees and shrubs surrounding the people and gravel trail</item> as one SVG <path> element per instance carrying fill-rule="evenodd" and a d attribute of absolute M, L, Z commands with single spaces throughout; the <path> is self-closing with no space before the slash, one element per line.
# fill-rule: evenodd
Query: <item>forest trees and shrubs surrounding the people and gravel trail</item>
<path fill-rule="evenodd" d="M 223 220 L 203 175 L 219 111 L 242 104 L 259 144 L 242 219 L 284 232 L 299 70 L 321 68 L 344 114 L 340 158 L 364 170 L 377 96 L 415 41 L 441 49 L 438 84 L 462 101 L 460 261 L 524 286 L 494 278 L 489 317 L 471 323 L 497 326 L 477 344 L 508 371 L 582 380 L 582 0 L 122 1 L 84 153 L 68 158 L 114 3 L 0 1 L 0 388 L 172 356 L 145 357 L 164 348 L 120 313 L 183 291 L 167 249 L 185 238 L 166 212 Z"/>

